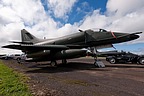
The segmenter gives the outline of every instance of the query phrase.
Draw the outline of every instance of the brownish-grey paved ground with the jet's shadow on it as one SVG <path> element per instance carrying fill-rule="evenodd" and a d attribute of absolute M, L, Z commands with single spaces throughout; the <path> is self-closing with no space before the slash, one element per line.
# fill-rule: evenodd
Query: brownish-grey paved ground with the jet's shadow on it
<path fill-rule="evenodd" d="M 30 78 L 34 96 L 144 96 L 144 65 L 101 60 L 105 68 L 94 68 L 91 58 L 71 59 L 58 67 L 51 67 L 49 62 L 3 62 Z"/>

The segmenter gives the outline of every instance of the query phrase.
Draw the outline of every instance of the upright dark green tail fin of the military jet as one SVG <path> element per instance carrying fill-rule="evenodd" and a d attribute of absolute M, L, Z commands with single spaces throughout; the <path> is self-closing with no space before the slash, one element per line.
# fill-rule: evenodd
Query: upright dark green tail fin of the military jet
<path fill-rule="evenodd" d="M 25 29 L 21 30 L 21 39 L 22 39 L 22 42 L 37 43 L 40 41 L 38 38 L 36 38 L 34 35 L 30 34 Z"/>

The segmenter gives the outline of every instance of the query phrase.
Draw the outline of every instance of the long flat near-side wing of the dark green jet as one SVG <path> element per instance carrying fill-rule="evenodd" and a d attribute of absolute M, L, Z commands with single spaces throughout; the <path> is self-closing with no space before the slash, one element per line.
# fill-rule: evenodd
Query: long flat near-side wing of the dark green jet
<path fill-rule="evenodd" d="M 69 47 L 65 45 L 6 45 L 2 48 L 18 49 L 18 50 L 65 50 Z"/>

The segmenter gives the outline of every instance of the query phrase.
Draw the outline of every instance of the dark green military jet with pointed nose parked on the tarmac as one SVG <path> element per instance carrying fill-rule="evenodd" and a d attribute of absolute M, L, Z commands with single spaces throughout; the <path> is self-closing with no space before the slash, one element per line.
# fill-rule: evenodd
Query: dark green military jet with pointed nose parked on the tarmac
<path fill-rule="evenodd" d="M 141 32 L 120 33 L 111 32 L 104 29 L 95 30 L 79 30 L 80 32 L 59 37 L 55 39 L 39 39 L 30 34 L 25 29 L 21 30 L 21 42 L 3 46 L 3 48 L 11 48 L 22 50 L 27 54 L 29 62 L 51 61 L 52 66 L 56 66 L 56 60 L 62 60 L 67 63 L 67 59 L 78 58 L 87 55 L 87 50 L 82 48 L 99 47 L 121 43 L 139 38 Z M 95 64 L 95 63 L 94 63 Z"/>

